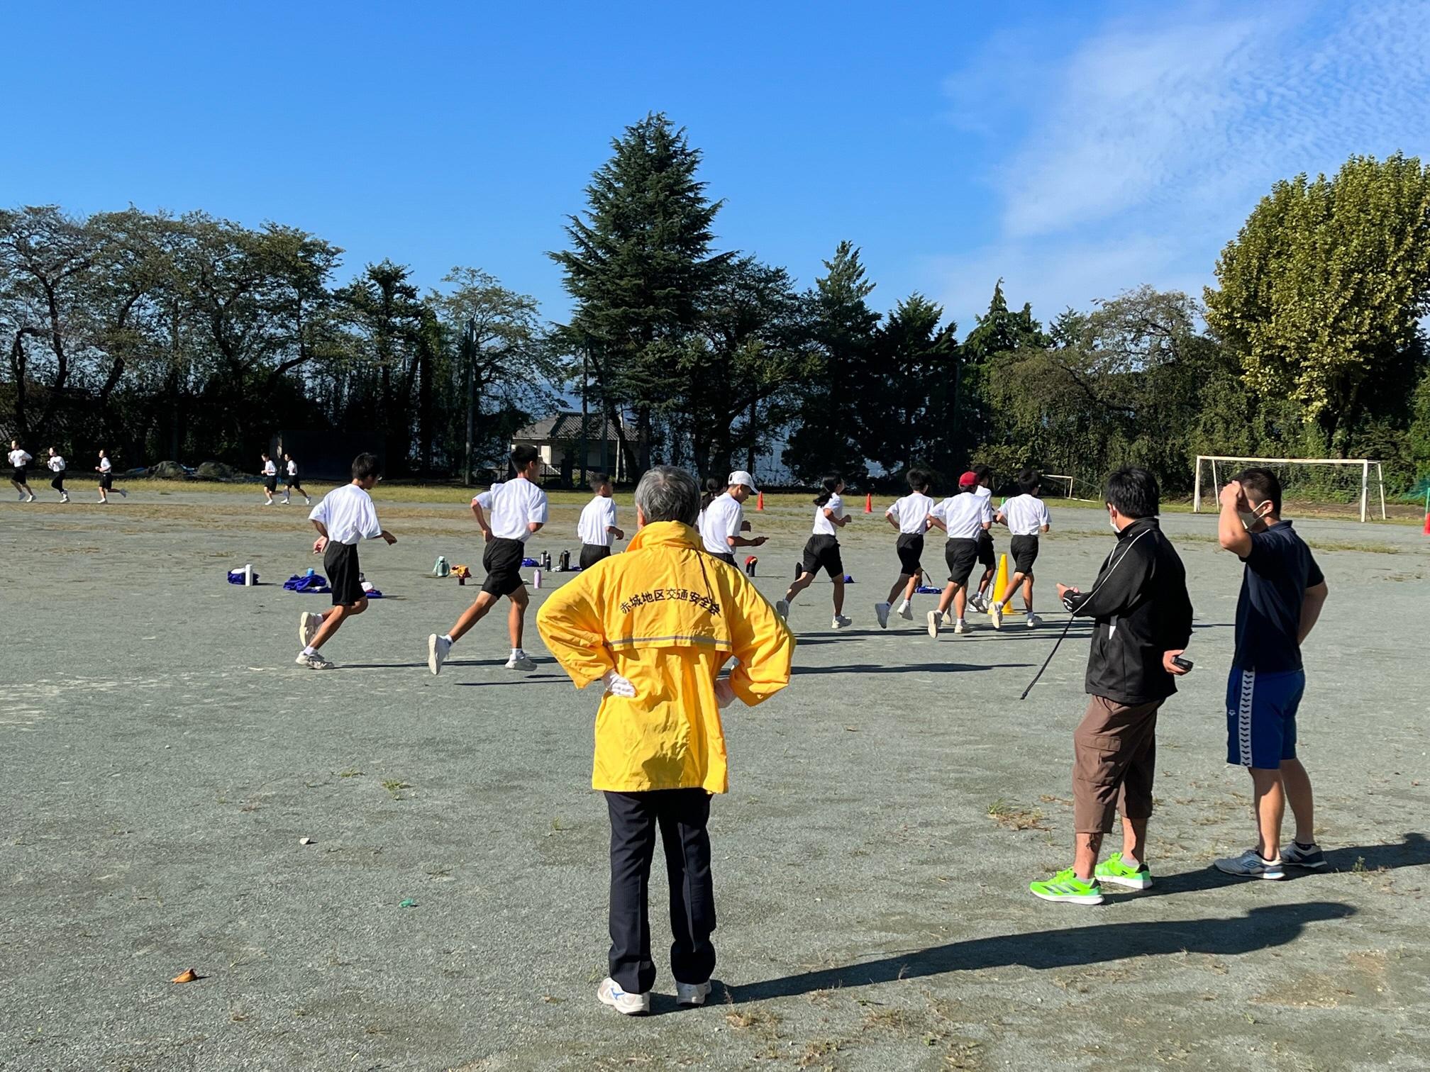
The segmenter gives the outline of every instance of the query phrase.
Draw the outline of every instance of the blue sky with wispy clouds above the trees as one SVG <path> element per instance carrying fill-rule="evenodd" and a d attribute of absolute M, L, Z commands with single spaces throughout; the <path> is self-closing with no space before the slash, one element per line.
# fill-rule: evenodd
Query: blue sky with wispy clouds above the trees
<path fill-rule="evenodd" d="M 721 246 L 809 283 L 839 239 L 887 309 L 967 332 L 1200 293 L 1278 177 L 1430 152 L 1430 4 L 14 4 L 0 204 L 277 220 L 472 264 L 566 307 L 543 250 L 609 140 L 664 110 Z"/>

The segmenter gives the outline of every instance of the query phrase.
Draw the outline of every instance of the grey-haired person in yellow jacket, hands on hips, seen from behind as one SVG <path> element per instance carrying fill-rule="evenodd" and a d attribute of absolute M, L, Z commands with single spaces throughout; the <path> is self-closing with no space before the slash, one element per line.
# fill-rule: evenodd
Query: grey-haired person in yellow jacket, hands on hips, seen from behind
<path fill-rule="evenodd" d="M 536 629 L 578 689 L 601 683 L 593 789 L 611 813 L 611 976 L 596 996 L 649 1012 L 655 962 L 646 888 L 656 828 L 671 882 L 676 1001 L 702 1005 L 715 969 L 715 892 L 706 822 L 728 789 L 719 710 L 789 683 L 794 637 L 754 585 L 701 549 L 699 489 L 658 466 L 635 492 L 641 530 L 562 585 Z M 729 678 L 716 678 L 725 662 Z"/>

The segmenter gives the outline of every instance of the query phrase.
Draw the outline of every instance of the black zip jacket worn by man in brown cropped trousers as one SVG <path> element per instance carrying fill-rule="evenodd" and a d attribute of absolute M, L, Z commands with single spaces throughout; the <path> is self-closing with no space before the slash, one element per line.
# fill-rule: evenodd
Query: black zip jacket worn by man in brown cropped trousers
<path fill-rule="evenodd" d="M 1087 656 L 1087 692 L 1114 703 L 1151 703 L 1177 692 L 1163 653 L 1191 640 L 1187 570 L 1155 517 L 1138 517 L 1117 535 L 1097 583 L 1068 592 L 1062 606 L 1097 619 Z"/>

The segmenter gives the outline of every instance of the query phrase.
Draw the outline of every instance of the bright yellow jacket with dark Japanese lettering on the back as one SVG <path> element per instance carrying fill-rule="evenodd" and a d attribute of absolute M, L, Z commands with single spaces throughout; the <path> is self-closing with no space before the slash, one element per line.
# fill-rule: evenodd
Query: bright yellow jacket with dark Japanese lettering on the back
<path fill-rule="evenodd" d="M 735 695 L 755 706 L 789 683 L 795 640 L 745 575 L 699 547 L 679 522 L 638 532 L 552 592 L 536 629 L 583 689 L 613 669 L 635 698 L 606 695 L 596 712 L 595 789 L 724 793 L 725 733 L 715 675 L 734 655 Z"/>

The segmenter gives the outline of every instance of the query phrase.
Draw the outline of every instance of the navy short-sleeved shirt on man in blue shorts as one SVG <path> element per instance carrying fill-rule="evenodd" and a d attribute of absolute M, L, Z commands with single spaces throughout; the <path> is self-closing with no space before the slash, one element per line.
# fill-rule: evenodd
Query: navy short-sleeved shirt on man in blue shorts
<path fill-rule="evenodd" d="M 1241 597 L 1237 600 L 1237 653 L 1234 666 L 1261 673 L 1301 669 L 1301 627 L 1306 589 L 1326 577 L 1306 540 L 1290 522 L 1277 522 L 1251 533 L 1251 550 L 1243 559 Z"/>

